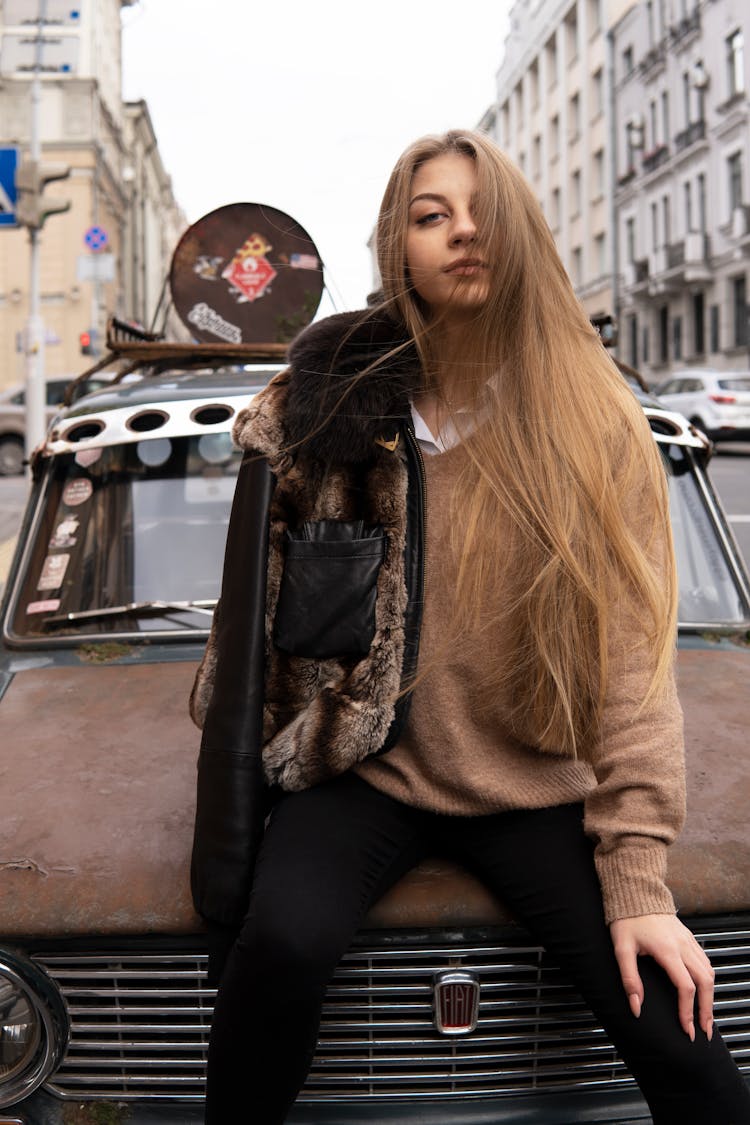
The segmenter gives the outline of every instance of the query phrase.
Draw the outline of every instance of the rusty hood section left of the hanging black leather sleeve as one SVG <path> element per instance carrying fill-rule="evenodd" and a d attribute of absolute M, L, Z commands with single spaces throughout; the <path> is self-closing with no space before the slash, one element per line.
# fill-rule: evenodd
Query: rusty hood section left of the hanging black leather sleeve
<path fill-rule="evenodd" d="M 190 932 L 195 663 L 30 668 L 0 703 L 0 929 Z"/>

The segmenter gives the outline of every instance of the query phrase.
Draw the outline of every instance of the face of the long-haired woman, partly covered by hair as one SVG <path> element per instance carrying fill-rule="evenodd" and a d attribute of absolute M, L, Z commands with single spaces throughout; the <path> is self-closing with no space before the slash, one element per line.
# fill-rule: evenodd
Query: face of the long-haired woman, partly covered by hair
<path fill-rule="evenodd" d="M 406 262 L 414 288 L 434 314 L 464 320 L 489 292 L 489 269 L 473 217 L 477 169 L 459 153 L 417 169 L 409 196 Z"/>

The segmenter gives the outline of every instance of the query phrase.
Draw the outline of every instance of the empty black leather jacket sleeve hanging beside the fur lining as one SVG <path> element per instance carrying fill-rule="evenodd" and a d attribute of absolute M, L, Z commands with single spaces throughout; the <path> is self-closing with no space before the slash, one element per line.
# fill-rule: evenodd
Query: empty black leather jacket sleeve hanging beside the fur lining
<path fill-rule="evenodd" d="M 272 490 L 268 461 L 245 454 L 229 518 L 214 691 L 198 763 L 192 897 L 204 918 L 227 927 L 245 915 L 266 812 L 261 745 Z"/>

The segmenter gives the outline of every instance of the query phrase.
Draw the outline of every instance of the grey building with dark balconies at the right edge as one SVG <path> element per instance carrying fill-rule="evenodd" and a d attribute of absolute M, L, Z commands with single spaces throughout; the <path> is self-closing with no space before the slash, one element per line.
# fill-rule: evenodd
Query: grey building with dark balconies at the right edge
<path fill-rule="evenodd" d="M 623 359 L 748 368 L 747 0 L 643 0 L 612 29 Z"/>

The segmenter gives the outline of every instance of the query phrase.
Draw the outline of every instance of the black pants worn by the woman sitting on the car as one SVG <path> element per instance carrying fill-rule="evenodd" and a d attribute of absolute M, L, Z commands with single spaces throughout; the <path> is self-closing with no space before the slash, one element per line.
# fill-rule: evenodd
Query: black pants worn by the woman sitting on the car
<path fill-rule="evenodd" d="M 284 796 L 257 862 L 216 1001 L 207 1125 L 278 1125 L 305 1082 L 326 984 L 370 906 L 426 855 L 460 861 L 514 911 L 602 1020 L 654 1125 L 750 1125 L 750 1094 L 721 1036 L 690 1043 L 677 994 L 642 958 L 631 1014 L 578 804 L 443 817 L 354 775 Z"/>

